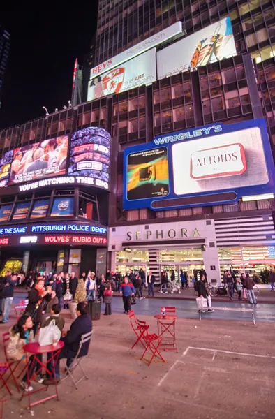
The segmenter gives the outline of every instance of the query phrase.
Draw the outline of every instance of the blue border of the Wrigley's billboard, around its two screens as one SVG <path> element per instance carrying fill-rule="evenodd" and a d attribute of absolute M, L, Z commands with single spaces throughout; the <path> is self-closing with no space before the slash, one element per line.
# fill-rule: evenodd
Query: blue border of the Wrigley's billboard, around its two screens
<path fill-rule="evenodd" d="M 216 131 L 215 131 L 216 128 Z M 214 137 L 216 135 L 221 135 L 221 133 L 231 133 L 235 131 L 242 131 L 248 128 L 260 128 L 261 137 L 262 137 L 262 146 L 265 152 L 265 162 L 267 166 L 267 172 L 269 176 L 269 182 L 264 185 L 257 185 L 257 186 L 240 186 L 239 188 L 235 189 L 226 189 L 225 191 L 207 191 L 202 193 L 192 193 L 178 196 L 174 193 L 174 180 L 173 180 L 173 173 L 172 173 L 172 145 L 177 142 L 181 141 L 192 141 L 196 138 L 207 138 L 209 136 Z M 209 130 L 209 133 L 205 133 L 205 131 Z M 178 137 L 181 138 L 178 138 Z M 184 138 L 182 138 L 184 137 Z M 169 188 L 170 192 L 168 196 L 160 196 L 158 198 L 143 198 L 140 200 L 128 200 L 127 199 L 127 161 L 128 155 L 147 151 L 149 149 L 157 149 L 159 147 L 167 147 L 168 149 L 168 170 L 169 170 Z M 212 200 L 207 203 L 192 203 L 189 205 L 177 205 L 177 200 L 181 200 L 182 198 L 195 198 L 199 196 L 214 196 L 214 195 L 221 195 L 221 193 L 235 193 L 236 198 L 234 200 Z M 149 207 L 153 211 L 162 211 L 162 210 L 173 210 L 177 208 L 190 208 L 190 207 L 203 207 L 209 205 L 221 205 L 221 204 L 234 204 L 242 196 L 251 196 L 251 195 L 260 195 L 263 193 L 275 193 L 274 189 L 274 162 L 272 159 L 272 149 L 270 147 L 269 142 L 269 135 L 267 133 L 267 125 L 265 123 L 265 119 L 251 119 L 249 121 L 244 122 L 237 122 L 235 124 L 228 124 L 225 125 L 222 122 L 217 122 L 216 124 L 209 124 L 204 126 L 198 126 L 191 129 L 175 131 L 172 133 L 165 133 L 163 135 L 158 135 L 155 137 L 151 142 L 143 145 L 136 145 L 133 147 L 127 147 L 124 149 L 124 162 L 123 162 L 123 207 L 124 210 L 137 210 L 140 208 L 147 208 Z M 164 203 L 165 200 L 174 200 L 175 205 L 172 206 L 165 206 L 163 204 L 162 207 L 154 208 L 152 207 L 152 203 L 162 201 Z"/>

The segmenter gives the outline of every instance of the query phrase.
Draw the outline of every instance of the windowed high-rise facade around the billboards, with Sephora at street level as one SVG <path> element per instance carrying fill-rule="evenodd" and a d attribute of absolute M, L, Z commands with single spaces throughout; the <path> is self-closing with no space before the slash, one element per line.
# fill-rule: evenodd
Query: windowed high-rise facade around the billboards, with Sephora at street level
<path fill-rule="evenodd" d="M 187 41 L 226 17 L 230 17 L 237 53 L 200 66 L 197 71 L 178 71 L 151 86 L 129 89 L 110 98 L 109 129 L 120 149 L 117 191 L 110 198 L 109 251 L 113 270 L 126 273 L 144 266 L 159 277 L 163 269 L 174 269 L 179 274 L 181 268 L 192 272 L 205 267 L 210 279 L 220 281 L 220 271 L 225 267 L 248 271 L 255 268 L 260 272 L 274 263 L 274 199 L 239 200 L 233 205 L 173 206 L 162 211 L 149 207 L 125 210 L 123 204 L 124 150 L 151 142 L 159 135 L 217 122 L 233 124 L 264 118 L 274 156 L 274 15 L 274 3 L 265 0 L 99 2 L 96 64 L 129 48 L 133 50 L 135 45 L 179 21 Z M 171 39 L 159 43 L 157 54 L 177 42 Z M 198 240 L 195 246 L 187 237 L 172 237 L 174 231 L 179 235 L 186 226 L 192 232 L 198 223 L 202 223 L 201 242 Z M 146 233 L 152 230 L 156 230 L 156 235 L 147 237 Z M 168 231 L 171 237 L 167 236 Z M 133 232 L 138 232 L 136 240 L 129 239 L 128 233 L 132 237 Z M 179 243 L 180 239 L 185 241 Z M 203 240 L 205 250 L 201 248 Z"/>

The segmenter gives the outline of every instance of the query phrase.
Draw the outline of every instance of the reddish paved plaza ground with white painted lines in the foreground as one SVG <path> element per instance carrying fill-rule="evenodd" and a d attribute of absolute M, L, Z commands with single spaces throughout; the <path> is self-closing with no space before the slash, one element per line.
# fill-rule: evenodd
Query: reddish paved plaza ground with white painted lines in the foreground
<path fill-rule="evenodd" d="M 65 317 L 68 328 L 68 311 Z M 152 315 L 138 317 L 149 323 L 152 332 L 157 331 Z M 235 321 L 211 319 L 211 314 L 201 322 L 179 318 L 179 352 L 163 352 L 167 362 L 154 360 L 150 367 L 140 361 L 141 345 L 131 351 L 134 341 L 125 314 L 94 321 L 89 356 L 83 360 L 89 381 L 82 381 L 75 390 L 68 378 L 59 385 L 60 401 L 34 406 L 34 417 L 274 418 L 274 321 L 253 325 L 249 316 Z M 39 386 L 34 383 L 34 388 Z M 5 405 L 3 418 L 31 417 L 27 398 L 18 402 L 13 383 L 10 387 L 13 397 Z M 49 395 L 53 390 L 49 387 Z"/>

